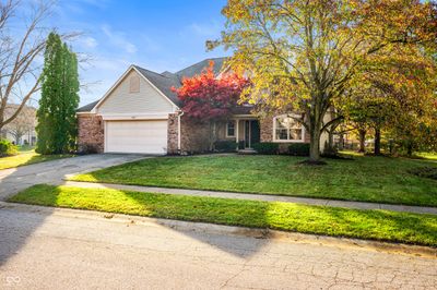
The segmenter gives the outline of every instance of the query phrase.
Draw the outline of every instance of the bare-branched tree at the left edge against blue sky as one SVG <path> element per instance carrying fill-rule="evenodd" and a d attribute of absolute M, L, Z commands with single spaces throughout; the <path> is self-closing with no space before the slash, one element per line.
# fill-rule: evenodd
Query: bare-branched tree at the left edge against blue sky
<path fill-rule="evenodd" d="M 23 15 L 23 7 L 26 13 Z M 0 130 L 21 113 L 39 90 L 39 64 L 35 61 L 45 48 L 44 20 L 51 2 L 0 2 Z M 24 19 L 24 20 L 23 20 Z M 5 113 L 10 104 L 19 106 Z"/>

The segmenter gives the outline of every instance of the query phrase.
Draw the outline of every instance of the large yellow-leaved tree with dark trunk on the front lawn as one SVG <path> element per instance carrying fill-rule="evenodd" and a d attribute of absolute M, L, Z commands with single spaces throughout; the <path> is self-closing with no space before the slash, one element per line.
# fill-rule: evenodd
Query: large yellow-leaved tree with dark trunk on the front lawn
<path fill-rule="evenodd" d="M 369 58 L 436 41 L 436 9 L 418 0 L 228 0 L 223 14 L 222 38 L 208 47 L 235 51 L 232 68 L 251 73 L 250 102 L 302 112 L 311 162 L 327 111 Z"/>

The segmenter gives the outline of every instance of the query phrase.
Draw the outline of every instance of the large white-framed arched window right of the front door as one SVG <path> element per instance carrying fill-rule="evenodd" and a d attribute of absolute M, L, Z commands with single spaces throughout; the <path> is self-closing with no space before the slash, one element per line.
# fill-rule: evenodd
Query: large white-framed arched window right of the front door
<path fill-rule="evenodd" d="M 304 126 L 287 114 L 273 118 L 273 141 L 304 142 Z"/>

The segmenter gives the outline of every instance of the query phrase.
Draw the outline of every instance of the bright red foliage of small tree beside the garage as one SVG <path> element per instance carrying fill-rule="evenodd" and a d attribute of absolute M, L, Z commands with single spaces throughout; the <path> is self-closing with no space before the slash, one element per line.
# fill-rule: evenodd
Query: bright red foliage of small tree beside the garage
<path fill-rule="evenodd" d="M 180 88 L 173 88 L 182 101 L 182 111 L 190 118 L 202 121 L 223 119 L 229 116 L 249 81 L 235 73 L 216 78 L 214 62 L 210 62 L 200 75 L 184 78 Z"/>

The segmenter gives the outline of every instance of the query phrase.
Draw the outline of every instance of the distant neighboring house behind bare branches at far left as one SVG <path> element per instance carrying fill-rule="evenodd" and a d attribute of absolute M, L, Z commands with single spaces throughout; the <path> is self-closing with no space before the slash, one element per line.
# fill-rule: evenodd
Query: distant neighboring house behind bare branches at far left
<path fill-rule="evenodd" d="M 12 116 L 19 105 L 10 104 L 5 107 L 4 118 Z M 7 138 L 16 145 L 35 145 L 36 144 L 36 109 L 25 106 L 19 116 L 8 123 L 0 132 L 1 138 Z"/>

